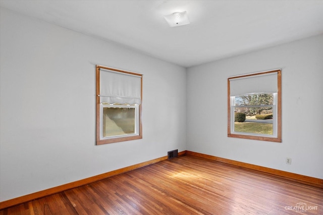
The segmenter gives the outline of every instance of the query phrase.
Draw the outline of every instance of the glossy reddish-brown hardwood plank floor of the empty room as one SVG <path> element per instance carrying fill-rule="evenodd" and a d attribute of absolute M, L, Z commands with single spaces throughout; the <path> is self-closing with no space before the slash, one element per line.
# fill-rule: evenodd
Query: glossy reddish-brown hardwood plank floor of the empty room
<path fill-rule="evenodd" d="M 186 155 L 6 208 L 0 215 L 302 214 L 297 208 L 323 214 L 323 190 Z"/>

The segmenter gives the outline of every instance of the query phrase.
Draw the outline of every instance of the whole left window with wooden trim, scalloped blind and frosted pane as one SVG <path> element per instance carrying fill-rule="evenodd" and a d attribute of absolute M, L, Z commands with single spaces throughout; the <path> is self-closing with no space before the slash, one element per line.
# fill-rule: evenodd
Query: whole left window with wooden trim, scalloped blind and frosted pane
<path fill-rule="evenodd" d="M 141 139 L 142 75 L 96 66 L 96 144 Z"/>

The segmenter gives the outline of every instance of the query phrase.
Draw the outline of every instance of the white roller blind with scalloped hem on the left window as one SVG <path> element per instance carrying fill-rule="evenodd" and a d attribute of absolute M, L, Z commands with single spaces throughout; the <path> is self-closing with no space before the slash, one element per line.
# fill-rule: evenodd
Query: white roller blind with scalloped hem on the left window
<path fill-rule="evenodd" d="M 141 76 L 100 69 L 100 103 L 141 104 Z"/>

